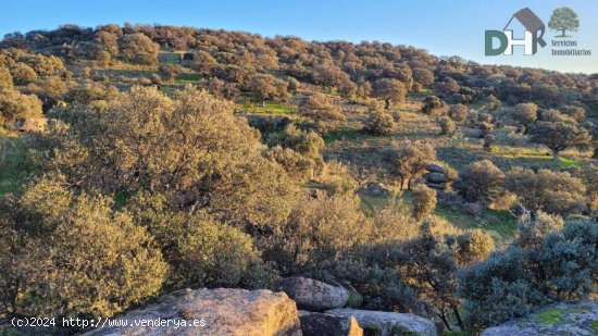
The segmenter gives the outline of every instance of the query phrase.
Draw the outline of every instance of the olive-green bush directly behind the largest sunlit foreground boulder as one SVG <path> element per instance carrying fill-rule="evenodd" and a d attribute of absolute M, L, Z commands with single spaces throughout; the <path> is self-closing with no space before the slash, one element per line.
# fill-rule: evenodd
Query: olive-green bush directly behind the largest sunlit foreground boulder
<path fill-rule="evenodd" d="M 249 235 L 207 213 L 173 211 L 166 197 L 145 192 L 127 202 L 127 208 L 155 237 L 172 269 L 167 283 L 172 289 L 252 287 L 267 283 L 273 275 Z M 254 274 L 256 270 L 263 272 Z"/>

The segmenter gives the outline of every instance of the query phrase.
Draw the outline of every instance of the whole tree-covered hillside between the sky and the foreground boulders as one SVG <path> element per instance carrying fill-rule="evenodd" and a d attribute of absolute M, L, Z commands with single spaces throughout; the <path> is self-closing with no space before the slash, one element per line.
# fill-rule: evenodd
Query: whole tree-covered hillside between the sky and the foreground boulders
<path fill-rule="evenodd" d="M 64 25 L 1 40 L 0 124 L 0 320 L 297 275 L 447 332 L 596 295 L 596 74 Z"/>

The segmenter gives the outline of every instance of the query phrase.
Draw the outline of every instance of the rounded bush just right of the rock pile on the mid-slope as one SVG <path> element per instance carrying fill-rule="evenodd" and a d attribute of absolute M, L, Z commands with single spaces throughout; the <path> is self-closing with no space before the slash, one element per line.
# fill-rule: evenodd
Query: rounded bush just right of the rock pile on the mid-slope
<path fill-rule="evenodd" d="M 491 161 L 472 162 L 459 175 L 454 187 L 470 202 L 489 203 L 504 191 L 504 174 Z"/>

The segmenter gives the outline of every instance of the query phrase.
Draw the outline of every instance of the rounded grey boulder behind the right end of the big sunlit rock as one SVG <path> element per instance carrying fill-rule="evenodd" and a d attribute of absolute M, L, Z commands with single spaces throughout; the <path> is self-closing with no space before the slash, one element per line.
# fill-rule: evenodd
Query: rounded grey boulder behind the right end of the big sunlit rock
<path fill-rule="evenodd" d="M 277 289 L 288 294 L 300 309 L 310 311 L 341 308 L 349 299 L 349 291 L 342 286 L 333 286 L 302 276 L 282 279 Z"/>

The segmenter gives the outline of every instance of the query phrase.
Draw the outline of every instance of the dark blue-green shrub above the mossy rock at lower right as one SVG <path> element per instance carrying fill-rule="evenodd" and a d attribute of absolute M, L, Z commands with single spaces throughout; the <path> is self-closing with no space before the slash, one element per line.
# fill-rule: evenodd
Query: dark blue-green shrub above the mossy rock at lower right
<path fill-rule="evenodd" d="M 513 246 L 460 274 L 469 320 L 484 327 L 557 300 L 583 299 L 598 275 L 597 223 L 570 222 L 532 247 Z"/>

